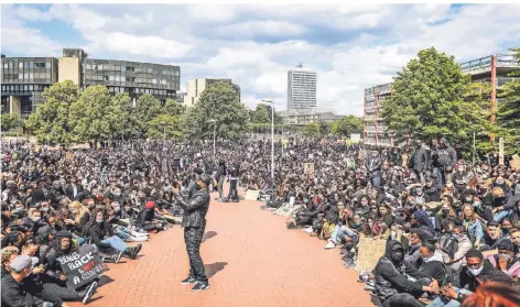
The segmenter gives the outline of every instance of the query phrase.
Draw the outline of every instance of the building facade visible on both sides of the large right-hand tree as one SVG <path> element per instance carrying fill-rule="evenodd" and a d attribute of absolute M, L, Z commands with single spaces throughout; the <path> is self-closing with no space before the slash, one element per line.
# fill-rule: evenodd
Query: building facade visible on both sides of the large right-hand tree
<path fill-rule="evenodd" d="M 472 76 L 473 81 L 490 83 L 492 86 L 491 108 L 496 108 L 497 92 L 503 84 L 514 77 L 509 74 L 520 72 L 520 63 L 512 55 L 489 55 L 461 63 L 461 69 Z M 518 77 L 516 77 L 518 78 Z M 364 103 L 364 139 L 366 144 L 396 146 L 393 133 L 382 122 L 381 102 L 392 95 L 392 84 L 379 85 L 365 89 Z M 491 121 L 495 118 L 491 117 Z"/>

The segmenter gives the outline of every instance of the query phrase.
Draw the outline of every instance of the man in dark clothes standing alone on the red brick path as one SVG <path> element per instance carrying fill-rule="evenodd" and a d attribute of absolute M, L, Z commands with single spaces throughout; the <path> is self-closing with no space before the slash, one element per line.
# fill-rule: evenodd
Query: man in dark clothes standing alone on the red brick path
<path fill-rule="evenodd" d="M 201 242 L 206 229 L 206 213 L 209 208 L 209 177 L 198 167 L 193 173 L 195 190 L 189 199 L 178 193 L 178 187 L 173 188 L 173 194 L 177 205 L 184 209 L 182 226 L 184 227 L 184 243 L 189 257 L 189 275 L 181 284 L 195 284 L 192 292 L 202 292 L 209 288 L 201 257 Z"/>

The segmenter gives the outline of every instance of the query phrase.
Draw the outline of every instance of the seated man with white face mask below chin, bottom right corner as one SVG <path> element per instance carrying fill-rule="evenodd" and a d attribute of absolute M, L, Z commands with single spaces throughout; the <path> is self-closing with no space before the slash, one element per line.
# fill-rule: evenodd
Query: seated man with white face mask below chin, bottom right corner
<path fill-rule="evenodd" d="M 478 250 L 469 250 L 467 252 L 466 263 L 466 266 L 458 273 L 458 278 L 454 278 L 454 286 L 448 285 L 442 289 L 443 295 L 452 300 L 464 301 L 469 293 L 476 292 L 485 282 L 496 282 L 506 285 L 512 285 L 513 283 L 506 273 L 495 270 Z"/>

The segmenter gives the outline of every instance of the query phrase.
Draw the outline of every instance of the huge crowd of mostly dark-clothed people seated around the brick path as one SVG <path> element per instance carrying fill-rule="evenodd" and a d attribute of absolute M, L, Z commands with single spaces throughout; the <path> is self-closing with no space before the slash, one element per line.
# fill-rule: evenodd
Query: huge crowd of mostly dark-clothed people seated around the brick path
<path fill-rule="evenodd" d="M 91 248 L 106 263 L 139 261 L 150 233 L 182 222 L 174 194 L 194 193 L 195 168 L 220 201 L 239 202 L 240 187 L 260 190 L 263 209 L 326 250 L 340 246 L 347 267 L 361 237 L 387 240 L 373 271 L 359 276 L 384 307 L 424 306 L 424 297 L 458 306 L 519 284 L 520 169 L 465 162 L 446 140 L 407 151 L 299 136 L 274 152 L 272 178 L 270 140 L 219 141 L 216 156 L 205 141 L 74 151 L 3 143 L 2 304 L 88 303 L 100 279 L 72 288 L 56 259 Z"/>

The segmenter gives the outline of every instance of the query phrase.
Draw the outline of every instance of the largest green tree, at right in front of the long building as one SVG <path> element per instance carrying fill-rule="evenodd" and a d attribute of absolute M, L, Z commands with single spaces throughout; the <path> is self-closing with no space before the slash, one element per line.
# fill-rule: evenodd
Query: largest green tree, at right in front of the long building
<path fill-rule="evenodd" d="M 447 136 L 463 143 L 473 131 L 489 133 L 484 125 L 489 105 L 464 100 L 463 95 L 475 90 L 469 84 L 470 77 L 453 56 L 433 47 L 420 51 L 394 78 L 392 96 L 382 101 L 383 120 L 400 140 L 411 133 L 422 140 Z"/>

